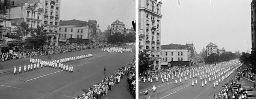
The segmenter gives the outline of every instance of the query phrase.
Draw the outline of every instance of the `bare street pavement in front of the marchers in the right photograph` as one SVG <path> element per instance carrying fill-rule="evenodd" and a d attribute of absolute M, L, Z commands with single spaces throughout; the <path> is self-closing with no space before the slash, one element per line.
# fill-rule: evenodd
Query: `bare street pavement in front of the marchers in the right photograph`
<path fill-rule="evenodd" d="M 222 86 L 225 83 L 228 83 L 232 76 L 234 77 L 235 73 L 236 72 L 233 72 L 232 75 L 224 80 L 224 82 L 218 84 L 216 88 L 213 87 L 213 81 L 209 82 L 208 78 L 207 85 L 204 85 L 204 87 L 201 86 L 202 82 L 199 78 L 197 78 L 198 83 L 192 86 L 192 79 L 195 82 L 195 78 L 189 79 L 189 77 L 187 81 L 185 81 L 183 77 L 182 83 L 177 79 L 177 84 L 175 84 L 175 78 L 174 80 L 169 79 L 168 82 L 164 80 L 164 83 L 162 83 L 161 79 L 158 79 L 158 82 L 154 79 L 152 83 L 148 81 L 145 83 L 139 83 L 139 99 L 147 99 L 149 96 L 150 99 L 213 99 L 213 94 L 218 94 L 222 89 Z M 156 92 L 152 91 L 154 84 L 156 86 Z M 253 83 L 248 83 L 248 85 L 253 86 Z M 145 96 L 144 92 L 146 90 L 149 94 Z"/>

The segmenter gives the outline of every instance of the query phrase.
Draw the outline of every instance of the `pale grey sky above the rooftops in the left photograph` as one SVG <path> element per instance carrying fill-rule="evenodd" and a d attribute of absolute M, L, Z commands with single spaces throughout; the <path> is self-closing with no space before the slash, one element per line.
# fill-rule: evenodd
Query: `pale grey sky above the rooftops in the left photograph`
<path fill-rule="evenodd" d="M 97 20 L 104 31 L 115 20 L 130 29 L 136 20 L 135 0 L 61 0 L 60 20 Z"/>

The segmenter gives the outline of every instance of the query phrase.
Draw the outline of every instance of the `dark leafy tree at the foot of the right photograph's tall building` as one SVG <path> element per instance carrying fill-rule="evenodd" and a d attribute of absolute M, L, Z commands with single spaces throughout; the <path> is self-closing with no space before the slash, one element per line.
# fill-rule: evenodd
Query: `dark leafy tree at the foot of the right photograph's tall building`
<path fill-rule="evenodd" d="M 153 69 L 153 63 L 148 57 L 149 55 L 147 55 L 146 51 L 139 54 L 139 73 Z"/>

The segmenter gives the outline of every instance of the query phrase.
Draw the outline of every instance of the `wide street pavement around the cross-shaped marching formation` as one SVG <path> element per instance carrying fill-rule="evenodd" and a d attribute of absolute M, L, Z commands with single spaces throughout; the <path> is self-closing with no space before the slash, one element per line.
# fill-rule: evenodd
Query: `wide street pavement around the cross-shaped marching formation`
<path fill-rule="evenodd" d="M 124 46 L 121 46 L 124 48 Z M 129 48 L 130 46 L 128 46 Z M 109 77 L 113 72 L 118 71 L 121 66 L 126 66 L 133 59 L 135 59 L 135 46 L 132 47 L 133 52 L 123 53 L 107 53 L 101 51 L 102 48 L 87 49 L 82 51 L 60 53 L 55 55 L 47 55 L 36 57 L 37 59 L 52 60 L 65 57 L 71 57 L 76 55 L 85 55 L 92 53 L 93 57 L 82 59 L 78 61 L 68 62 L 66 64 L 78 66 L 73 69 L 73 73 L 58 72 L 59 69 L 42 68 L 39 70 L 33 70 L 31 72 L 25 72 L 14 75 L 12 72 L 6 72 L 13 70 L 13 66 L 24 67 L 27 65 L 30 58 L 17 59 L 11 61 L 0 62 L 1 73 L 0 74 L 0 98 L 1 99 L 73 99 L 77 95 L 81 95 L 84 92 L 83 89 L 88 89 L 90 85 L 96 84 L 102 81 L 107 75 Z M 33 57 L 35 58 L 35 57 Z M 85 64 L 90 62 L 88 64 Z M 104 74 L 104 67 L 107 67 L 107 71 Z M 24 72 L 22 70 L 22 72 Z M 49 73 L 54 73 L 45 77 L 41 77 L 35 80 L 24 82 L 19 79 L 29 80 L 35 77 L 40 77 Z M 102 99 L 133 99 L 135 98 L 130 94 L 128 88 L 127 77 L 124 76 L 120 80 L 119 84 L 113 86 L 112 91 L 108 91 L 107 96 Z"/>

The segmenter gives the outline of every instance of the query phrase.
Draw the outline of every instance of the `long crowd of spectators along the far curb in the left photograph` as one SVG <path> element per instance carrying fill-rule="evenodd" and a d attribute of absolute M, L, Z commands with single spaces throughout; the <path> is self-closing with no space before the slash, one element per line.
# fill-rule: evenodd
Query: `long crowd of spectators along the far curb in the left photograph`
<path fill-rule="evenodd" d="M 57 53 L 66 53 L 71 51 L 80 51 L 84 49 L 94 49 L 101 47 L 118 46 L 111 44 L 67 44 L 59 46 L 44 46 L 43 48 L 33 48 L 26 51 L 13 51 L 12 53 L 0 53 L 0 61 L 11 59 L 21 59 L 26 57 L 35 57 L 40 55 L 51 55 Z"/>

